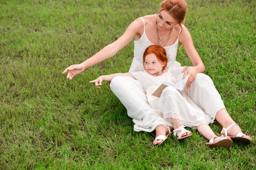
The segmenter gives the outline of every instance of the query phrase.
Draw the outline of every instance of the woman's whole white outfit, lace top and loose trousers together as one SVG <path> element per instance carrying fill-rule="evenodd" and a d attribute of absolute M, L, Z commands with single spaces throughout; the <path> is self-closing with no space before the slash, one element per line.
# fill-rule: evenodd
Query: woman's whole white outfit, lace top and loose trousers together
<path fill-rule="evenodd" d="M 142 17 L 141 19 L 143 20 Z M 149 45 L 154 45 L 148 40 L 144 20 L 143 23 L 143 34 L 139 40 L 134 41 L 134 59 L 129 72 L 143 70 L 143 53 Z M 169 57 L 168 67 L 180 67 L 180 63 L 175 61 L 178 37 L 173 45 L 164 48 Z M 183 69 L 183 67 L 180 67 L 180 69 Z M 179 77 L 178 74 L 176 76 Z M 127 109 L 128 116 L 133 119 L 135 131 L 151 132 L 158 125 L 172 126 L 170 122 L 160 116 L 161 113 L 158 109 L 151 107 L 143 87 L 137 80 L 131 77 L 115 77 L 111 81 L 110 88 Z M 185 88 L 184 92 L 212 119 L 215 119 L 215 115 L 220 109 L 225 108 L 212 79 L 205 74 L 197 74 L 190 88 Z"/>

